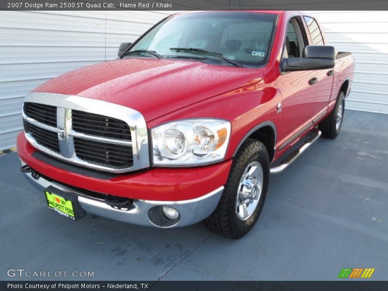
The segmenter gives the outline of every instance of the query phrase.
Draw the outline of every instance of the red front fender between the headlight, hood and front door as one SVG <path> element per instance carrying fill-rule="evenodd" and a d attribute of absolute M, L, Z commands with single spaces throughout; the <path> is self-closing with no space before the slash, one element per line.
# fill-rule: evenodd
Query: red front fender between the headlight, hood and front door
<path fill-rule="evenodd" d="M 281 99 L 275 87 L 265 87 L 260 81 L 166 114 L 149 122 L 148 128 L 185 118 L 207 117 L 229 120 L 232 129 L 225 159 L 230 159 L 255 129 L 269 125 L 276 132 L 280 124 L 276 105 Z"/>

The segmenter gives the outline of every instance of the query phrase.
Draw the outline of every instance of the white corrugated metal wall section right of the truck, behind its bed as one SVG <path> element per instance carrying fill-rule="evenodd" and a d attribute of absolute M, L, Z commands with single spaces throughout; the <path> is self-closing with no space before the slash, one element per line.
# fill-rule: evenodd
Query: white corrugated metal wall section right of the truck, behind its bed
<path fill-rule="evenodd" d="M 356 74 L 346 108 L 388 113 L 388 12 L 312 11 L 326 40 L 351 51 Z"/>

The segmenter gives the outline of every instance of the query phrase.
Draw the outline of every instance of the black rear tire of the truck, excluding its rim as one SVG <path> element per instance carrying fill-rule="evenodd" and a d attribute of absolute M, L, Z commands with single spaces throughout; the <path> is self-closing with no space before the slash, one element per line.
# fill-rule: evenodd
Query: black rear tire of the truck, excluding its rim
<path fill-rule="evenodd" d="M 339 123 L 339 127 L 337 128 L 337 115 L 338 115 L 340 105 L 342 105 L 342 115 L 341 115 L 341 121 Z M 345 109 L 345 94 L 343 92 L 340 92 L 333 111 L 328 116 L 326 116 L 326 118 L 323 119 L 322 122 L 318 125 L 318 128 L 322 131 L 323 137 L 331 138 L 331 139 L 337 137 L 337 135 L 339 134 L 339 130 L 341 130 L 344 109 Z"/>

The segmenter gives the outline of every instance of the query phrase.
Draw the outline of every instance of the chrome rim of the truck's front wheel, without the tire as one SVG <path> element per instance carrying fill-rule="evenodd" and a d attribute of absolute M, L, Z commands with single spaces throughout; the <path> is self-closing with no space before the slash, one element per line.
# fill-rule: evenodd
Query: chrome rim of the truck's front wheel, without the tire
<path fill-rule="evenodd" d="M 247 220 L 255 212 L 263 187 L 263 168 L 259 162 L 251 162 L 242 174 L 236 198 L 236 214 Z"/>

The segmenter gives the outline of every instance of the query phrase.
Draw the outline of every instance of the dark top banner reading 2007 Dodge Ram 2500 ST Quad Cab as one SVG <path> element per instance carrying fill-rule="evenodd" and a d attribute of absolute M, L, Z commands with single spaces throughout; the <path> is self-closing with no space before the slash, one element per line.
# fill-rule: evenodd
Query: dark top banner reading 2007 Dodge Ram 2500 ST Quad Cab
<path fill-rule="evenodd" d="M 388 10 L 387 0 L 0 0 L 0 10 Z"/>

